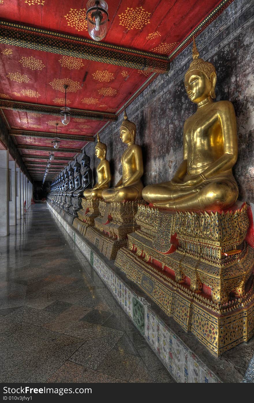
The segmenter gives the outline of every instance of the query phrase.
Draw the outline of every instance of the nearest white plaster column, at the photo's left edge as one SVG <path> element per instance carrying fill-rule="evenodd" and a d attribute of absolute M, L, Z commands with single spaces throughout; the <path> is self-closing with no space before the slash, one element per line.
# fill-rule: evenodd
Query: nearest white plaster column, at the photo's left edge
<path fill-rule="evenodd" d="M 0 235 L 9 235 L 9 150 L 0 150 Z"/>

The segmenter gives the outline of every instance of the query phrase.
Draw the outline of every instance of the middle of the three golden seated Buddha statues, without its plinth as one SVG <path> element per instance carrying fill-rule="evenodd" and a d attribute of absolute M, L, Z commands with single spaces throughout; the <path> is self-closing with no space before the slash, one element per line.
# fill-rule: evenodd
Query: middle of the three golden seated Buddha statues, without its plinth
<path fill-rule="evenodd" d="M 122 155 L 123 176 L 113 188 L 102 191 L 106 202 L 126 202 L 142 198 L 143 184 L 140 181 L 144 168 L 141 147 L 135 144 L 136 125 L 127 118 L 124 109 L 124 120 L 120 127 L 120 138 L 127 144 Z"/>

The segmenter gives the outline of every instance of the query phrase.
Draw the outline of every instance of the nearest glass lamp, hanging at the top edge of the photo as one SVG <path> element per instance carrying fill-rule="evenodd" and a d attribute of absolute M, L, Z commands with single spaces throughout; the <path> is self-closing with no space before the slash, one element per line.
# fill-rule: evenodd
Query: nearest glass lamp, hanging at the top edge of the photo
<path fill-rule="evenodd" d="M 88 33 L 95 41 L 101 41 L 108 28 L 108 4 L 104 0 L 89 0 L 86 7 Z"/>

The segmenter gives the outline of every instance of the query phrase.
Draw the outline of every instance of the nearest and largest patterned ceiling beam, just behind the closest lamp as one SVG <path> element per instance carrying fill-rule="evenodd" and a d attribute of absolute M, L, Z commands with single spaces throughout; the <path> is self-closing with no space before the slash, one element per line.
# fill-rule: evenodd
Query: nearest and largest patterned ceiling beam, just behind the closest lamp
<path fill-rule="evenodd" d="M 96 42 L 91 39 L 35 28 L 10 21 L 0 21 L 0 43 L 78 57 L 131 69 L 167 73 L 167 56 L 133 48 Z"/>

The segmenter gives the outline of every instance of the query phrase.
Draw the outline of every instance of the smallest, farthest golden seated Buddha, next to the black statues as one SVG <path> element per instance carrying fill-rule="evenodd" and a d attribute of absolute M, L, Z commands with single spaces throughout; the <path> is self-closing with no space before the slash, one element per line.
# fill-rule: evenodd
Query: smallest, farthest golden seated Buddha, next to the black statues
<path fill-rule="evenodd" d="M 97 133 L 97 144 L 95 147 L 95 155 L 100 159 L 100 163 L 97 166 L 97 178 L 98 182 L 92 189 L 84 191 L 84 197 L 87 199 L 102 199 L 102 191 L 108 188 L 108 184 L 111 181 L 109 162 L 106 160 L 107 146 L 101 143 L 99 134 Z"/>

